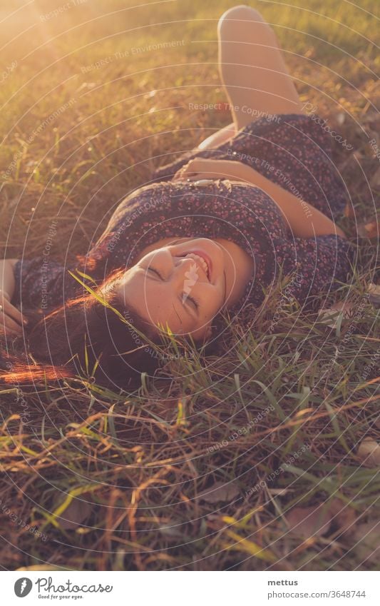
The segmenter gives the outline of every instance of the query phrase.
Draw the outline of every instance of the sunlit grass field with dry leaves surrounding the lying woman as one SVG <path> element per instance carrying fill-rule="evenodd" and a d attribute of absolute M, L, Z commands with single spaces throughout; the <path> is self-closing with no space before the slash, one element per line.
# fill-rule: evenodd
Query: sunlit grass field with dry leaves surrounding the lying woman
<path fill-rule="evenodd" d="M 233 3 L 8 4 L 1 250 L 40 255 L 56 221 L 51 257 L 70 266 L 160 156 L 230 121 L 189 104 L 226 101 L 216 25 Z M 221 359 L 168 364 L 161 393 L 84 379 L 2 390 L 4 569 L 379 570 L 379 309 L 366 296 L 379 240 L 365 227 L 379 206 L 379 3 L 356 4 L 252 4 L 302 99 L 353 147 L 336 146 L 352 201 L 340 226 L 358 251 L 336 301 L 351 315 L 274 299 L 250 333 L 231 328 Z"/>

